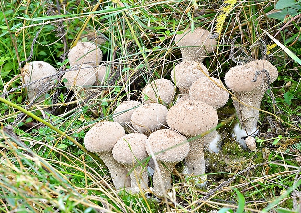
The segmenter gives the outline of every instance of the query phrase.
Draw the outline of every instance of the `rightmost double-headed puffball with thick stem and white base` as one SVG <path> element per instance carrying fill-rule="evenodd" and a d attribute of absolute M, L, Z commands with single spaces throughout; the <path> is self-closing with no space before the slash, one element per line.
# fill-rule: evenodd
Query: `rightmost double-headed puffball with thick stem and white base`
<path fill-rule="evenodd" d="M 243 147 L 246 147 L 244 138 L 257 132 L 261 100 L 277 77 L 277 68 L 266 60 L 232 67 L 225 75 L 225 83 L 234 93 L 233 105 L 239 121 L 234 127 L 234 136 Z M 251 149 L 254 145 L 248 147 Z"/>

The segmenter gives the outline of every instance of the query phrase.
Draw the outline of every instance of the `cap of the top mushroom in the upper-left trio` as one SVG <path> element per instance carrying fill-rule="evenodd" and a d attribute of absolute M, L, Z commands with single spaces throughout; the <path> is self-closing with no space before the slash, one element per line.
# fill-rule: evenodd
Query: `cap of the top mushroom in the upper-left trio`
<path fill-rule="evenodd" d="M 83 63 L 98 65 L 102 60 L 102 52 L 98 46 L 90 42 L 78 42 L 68 53 L 71 66 Z"/>

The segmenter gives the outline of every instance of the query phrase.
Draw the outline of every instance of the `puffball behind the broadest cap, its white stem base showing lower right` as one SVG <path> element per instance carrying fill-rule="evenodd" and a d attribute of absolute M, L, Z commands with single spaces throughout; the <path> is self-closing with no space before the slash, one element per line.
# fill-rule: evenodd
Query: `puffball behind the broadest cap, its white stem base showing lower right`
<path fill-rule="evenodd" d="M 229 93 L 219 79 L 215 77 L 201 77 L 192 83 L 189 97 L 205 102 L 214 109 L 219 109 L 227 103 Z M 204 137 L 206 137 L 205 145 L 209 148 L 209 151 L 218 153 L 220 150 L 220 134 L 213 130 Z"/>

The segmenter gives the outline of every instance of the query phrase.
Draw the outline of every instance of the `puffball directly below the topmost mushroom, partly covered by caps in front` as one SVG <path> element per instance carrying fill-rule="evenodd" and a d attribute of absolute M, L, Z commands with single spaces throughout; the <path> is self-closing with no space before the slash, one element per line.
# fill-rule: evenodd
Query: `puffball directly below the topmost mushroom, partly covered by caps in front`
<path fill-rule="evenodd" d="M 179 88 L 180 93 L 188 94 L 190 86 L 200 77 L 209 75 L 204 64 L 197 61 L 183 61 L 171 71 L 171 80 Z"/>

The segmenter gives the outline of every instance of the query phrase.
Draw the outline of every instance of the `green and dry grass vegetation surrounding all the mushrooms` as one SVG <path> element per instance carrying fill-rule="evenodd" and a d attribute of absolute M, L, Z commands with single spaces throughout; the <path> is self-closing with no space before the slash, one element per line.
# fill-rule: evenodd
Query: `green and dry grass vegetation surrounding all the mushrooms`
<path fill-rule="evenodd" d="M 298 212 L 301 184 L 301 3 L 295 0 L 0 1 L 1 212 Z M 223 77 L 237 61 L 265 58 L 279 77 L 264 96 L 257 150 L 231 137 L 232 101 L 218 110 L 219 154 L 206 152 L 208 181 L 197 189 L 176 170 L 162 201 L 113 188 L 106 167 L 84 149 L 94 123 L 111 120 L 147 82 L 181 61 L 176 34 L 202 27 L 217 49 L 204 60 Z M 87 93 L 62 76 L 77 41 L 98 43 L 110 73 Z M 57 71 L 46 99 L 29 102 L 21 69 L 45 61 Z M 13 131 L 5 129 L 11 125 Z"/>

